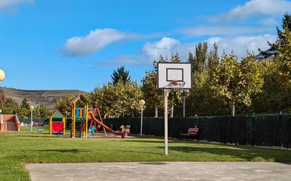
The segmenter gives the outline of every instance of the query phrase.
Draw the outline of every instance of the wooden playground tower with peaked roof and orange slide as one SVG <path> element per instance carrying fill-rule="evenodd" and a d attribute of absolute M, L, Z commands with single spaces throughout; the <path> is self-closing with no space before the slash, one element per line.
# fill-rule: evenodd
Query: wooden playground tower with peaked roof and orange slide
<path fill-rule="evenodd" d="M 81 102 L 79 102 L 81 101 Z M 78 127 L 80 130 L 80 132 L 77 132 L 78 135 L 82 135 L 83 133 L 83 137 L 87 138 L 88 137 L 88 120 L 90 119 L 90 127 L 89 129 L 91 129 L 92 125 L 95 125 L 95 128 L 97 129 L 97 125 L 101 125 L 103 127 L 103 131 L 105 133 L 105 136 L 107 136 L 106 130 L 109 132 L 112 132 L 115 135 L 121 135 L 121 137 L 127 137 L 128 133 L 129 133 L 129 129 L 121 129 L 121 131 L 114 131 L 112 130 L 110 127 L 108 127 L 107 125 L 105 125 L 103 123 L 102 117 L 100 115 L 100 111 L 98 108 L 95 108 L 95 111 L 89 111 L 89 101 L 88 99 L 85 98 L 85 96 L 83 96 L 82 94 L 76 96 L 75 99 L 73 99 L 73 101 L 71 101 L 72 104 L 72 122 L 71 122 L 71 137 L 74 138 L 76 137 L 76 123 L 78 121 L 78 123 L 80 123 L 79 125 L 81 125 L 81 128 Z M 79 108 L 77 107 L 77 104 L 83 104 L 83 106 L 85 106 L 84 108 Z M 95 113 L 97 113 L 97 115 L 99 116 L 100 120 L 98 120 L 97 118 L 95 118 Z M 96 125 L 97 124 L 97 125 Z"/>

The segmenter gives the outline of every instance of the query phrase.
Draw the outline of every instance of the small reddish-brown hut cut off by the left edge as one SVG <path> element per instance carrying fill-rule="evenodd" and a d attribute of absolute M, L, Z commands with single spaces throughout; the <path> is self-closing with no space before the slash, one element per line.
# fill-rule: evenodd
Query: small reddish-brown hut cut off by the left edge
<path fill-rule="evenodd" d="M 17 115 L 0 114 L 0 132 L 19 131 L 20 123 Z"/>

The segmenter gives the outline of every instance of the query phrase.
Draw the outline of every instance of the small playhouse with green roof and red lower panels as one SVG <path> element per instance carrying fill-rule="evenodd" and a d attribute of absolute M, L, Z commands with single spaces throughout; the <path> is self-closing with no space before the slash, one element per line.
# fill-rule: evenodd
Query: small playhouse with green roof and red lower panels
<path fill-rule="evenodd" d="M 49 116 L 49 135 L 66 135 L 66 116 L 59 110 Z"/>

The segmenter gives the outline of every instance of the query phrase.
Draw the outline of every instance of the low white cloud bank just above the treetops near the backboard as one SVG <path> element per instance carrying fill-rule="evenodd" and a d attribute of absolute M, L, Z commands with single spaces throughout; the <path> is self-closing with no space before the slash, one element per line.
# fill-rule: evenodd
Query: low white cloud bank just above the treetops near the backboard
<path fill-rule="evenodd" d="M 268 42 L 275 42 L 277 36 L 275 35 L 256 35 L 256 36 L 236 36 L 236 37 L 210 37 L 208 48 L 212 48 L 212 44 L 218 44 L 218 53 L 221 56 L 222 52 L 231 53 L 242 58 L 246 56 L 247 51 L 257 54 L 258 48 L 265 50 L 268 49 Z M 118 55 L 109 57 L 106 61 L 99 61 L 98 65 L 117 66 L 117 65 L 132 65 L 144 66 L 152 65 L 153 60 L 159 58 L 160 55 L 167 56 L 168 58 L 172 53 L 178 53 L 181 61 L 186 61 L 189 52 L 195 49 L 194 42 L 182 43 L 179 40 L 162 37 L 162 39 L 155 42 L 147 42 L 141 49 L 141 54 L 136 56 L 131 55 Z"/>

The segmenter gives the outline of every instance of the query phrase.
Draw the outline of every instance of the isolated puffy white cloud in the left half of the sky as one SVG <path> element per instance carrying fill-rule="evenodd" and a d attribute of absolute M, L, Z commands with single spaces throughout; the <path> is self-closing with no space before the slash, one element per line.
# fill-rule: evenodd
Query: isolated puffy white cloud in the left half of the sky
<path fill-rule="evenodd" d="M 68 39 L 60 49 L 60 53 L 64 56 L 86 56 L 125 38 L 124 32 L 110 28 L 91 30 L 90 34 L 85 37 Z"/>

